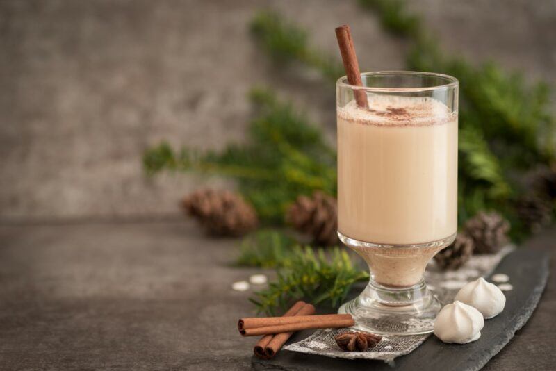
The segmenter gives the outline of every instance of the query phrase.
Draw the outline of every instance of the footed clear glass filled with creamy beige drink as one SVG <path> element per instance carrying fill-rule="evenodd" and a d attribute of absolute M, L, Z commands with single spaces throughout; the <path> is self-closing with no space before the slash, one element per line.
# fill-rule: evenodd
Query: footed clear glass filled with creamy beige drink
<path fill-rule="evenodd" d="M 374 333 L 431 332 L 441 305 L 423 273 L 457 232 L 458 81 L 424 72 L 361 79 L 336 83 L 338 236 L 366 261 L 370 281 L 339 312 Z M 357 106 L 361 95 L 368 108 Z"/>

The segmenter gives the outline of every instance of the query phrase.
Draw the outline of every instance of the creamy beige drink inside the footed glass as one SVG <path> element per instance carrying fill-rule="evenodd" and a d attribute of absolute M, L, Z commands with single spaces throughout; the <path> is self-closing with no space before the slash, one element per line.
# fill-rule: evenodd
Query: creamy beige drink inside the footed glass
<path fill-rule="evenodd" d="M 338 107 L 338 231 L 381 245 L 350 244 L 377 283 L 411 286 L 457 231 L 457 110 L 388 94 L 368 106 Z"/>

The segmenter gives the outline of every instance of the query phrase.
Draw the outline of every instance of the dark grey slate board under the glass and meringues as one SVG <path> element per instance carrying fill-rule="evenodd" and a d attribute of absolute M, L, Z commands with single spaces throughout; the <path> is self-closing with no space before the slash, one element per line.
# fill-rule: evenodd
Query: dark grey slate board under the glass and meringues
<path fill-rule="evenodd" d="M 496 353 L 500 352 L 514 333 L 530 318 L 541 298 L 549 273 L 548 252 L 532 249 L 516 249 L 500 261 L 492 272 L 509 275 L 514 286 L 505 292 L 506 306 L 496 318 L 486 320 L 481 338 L 464 345 L 445 344 L 436 336 L 407 356 L 395 358 L 393 364 L 383 361 L 345 360 L 288 352 L 282 350 L 268 361 L 253 356 L 254 370 L 480 370 Z M 490 276 L 489 276 L 490 277 Z M 487 277 L 487 279 L 489 278 Z M 309 336 L 311 331 L 300 331 L 289 341 L 295 342 Z"/>

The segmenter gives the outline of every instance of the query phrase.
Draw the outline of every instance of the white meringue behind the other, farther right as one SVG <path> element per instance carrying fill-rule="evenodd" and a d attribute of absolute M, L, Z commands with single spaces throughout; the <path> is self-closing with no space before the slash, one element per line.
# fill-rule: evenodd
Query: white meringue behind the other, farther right
<path fill-rule="evenodd" d="M 462 287 L 455 299 L 477 308 L 485 319 L 493 318 L 506 304 L 502 290 L 482 277 Z"/>

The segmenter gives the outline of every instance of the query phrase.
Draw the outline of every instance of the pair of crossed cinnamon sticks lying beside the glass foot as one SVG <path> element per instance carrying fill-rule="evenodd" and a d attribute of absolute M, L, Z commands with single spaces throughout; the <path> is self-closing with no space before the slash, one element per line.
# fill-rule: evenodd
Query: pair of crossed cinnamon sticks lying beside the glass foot
<path fill-rule="evenodd" d="M 295 303 L 282 317 L 241 318 L 238 330 L 243 336 L 264 335 L 253 352 L 263 359 L 270 359 L 281 349 L 294 331 L 350 327 L 354 320 L 349 314 L 313 315 L 315 307 L 305 302 Z"/>

